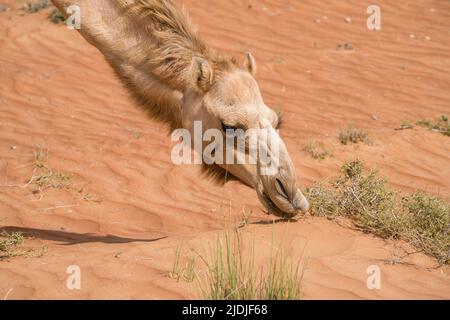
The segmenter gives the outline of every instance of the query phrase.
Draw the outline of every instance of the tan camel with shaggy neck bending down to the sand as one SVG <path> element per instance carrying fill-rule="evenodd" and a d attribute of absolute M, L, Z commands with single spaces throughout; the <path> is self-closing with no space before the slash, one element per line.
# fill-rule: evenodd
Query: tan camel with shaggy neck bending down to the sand
<path fill-rule="evenodd" d="M 214 164 L 256 190 L 267 213 L 292 218 L 308 210 L 287 148 L 275 131 L 281 121 L 263 101 L 251 53 L 245 62 L 209 48 L 187 15 L 169 0 L 52 0 L 79 8 L 81 35 L 104 55 L 118 78 L 151 116 L 172 130 L 270 130 L 276 173 L 255 164 Z M 264 146 L 271 153 L 271 146 Z M 248 152 L 235 149 L 235 154 Z"/>

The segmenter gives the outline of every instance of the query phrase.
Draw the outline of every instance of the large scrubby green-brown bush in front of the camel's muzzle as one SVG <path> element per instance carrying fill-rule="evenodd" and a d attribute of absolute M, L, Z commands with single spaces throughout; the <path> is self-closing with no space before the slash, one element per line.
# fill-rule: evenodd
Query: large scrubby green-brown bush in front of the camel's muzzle
<path fill-rule="evenodd" d="M 450 202 L 416 192 L 402 197 L 386 187 L 359 160 L 342 166 L 341 175 L 306 190 L 313 215 L 352 219 L 363 231 L 402 239 L 440 263 L 450 262 Z"/>

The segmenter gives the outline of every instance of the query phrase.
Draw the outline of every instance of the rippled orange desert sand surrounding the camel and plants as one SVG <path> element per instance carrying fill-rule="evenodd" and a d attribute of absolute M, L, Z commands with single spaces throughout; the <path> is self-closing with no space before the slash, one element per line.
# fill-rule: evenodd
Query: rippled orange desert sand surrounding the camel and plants
<path fill-rule="evenodd" d="M 0 231 L 27 236 L 24 254 L 0 260 L 0 299 L 202 298 L 195 281 L 168 276 L 175 252 L 207 255 L 243 211 L 258 265 L 274 241 L 304 260 L 304 299 L 450 299 L 448 266 L 400 241 L 311 215 L 273 223 L 249 187 L 174 165 L 167 128 L 136 106 L 96 48 L 47 9 L 0 3 Z M 368 1 L 177 4 L 214 48 L 253 53 L 303 188 L 359 158 L 401 192 L 450 196 L 449 137 L 395 130 L 450 113 L 450 2 L 379 0 L 380 31 L 366 27 Z M 340 144 L 349 123 L 372 143 Z M 309 139 L 334 156 L 312 158 Z M 70 176 L 68 187 L 36 192 L 28 183 L 36 146 Z M 79 290 L 66 286 L 71 265 Z M 381 269 L 380 289 L 367 288 L 370 265 Z"/>

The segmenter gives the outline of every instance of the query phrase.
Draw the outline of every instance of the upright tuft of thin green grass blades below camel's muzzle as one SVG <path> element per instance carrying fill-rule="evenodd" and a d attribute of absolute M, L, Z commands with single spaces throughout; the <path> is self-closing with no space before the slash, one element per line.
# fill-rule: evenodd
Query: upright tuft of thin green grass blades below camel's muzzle
<path fill-rule="evenodd" d="M 283 250 L 271 251 L 268 270 L 255 269 L 254 245 L 242 250 L 238 229 L 217 238 L 207 262 L 206 284 L 201 283 L 206 299 L 212 300 L 294 300 L 300 299 L 302 274 Z"/>

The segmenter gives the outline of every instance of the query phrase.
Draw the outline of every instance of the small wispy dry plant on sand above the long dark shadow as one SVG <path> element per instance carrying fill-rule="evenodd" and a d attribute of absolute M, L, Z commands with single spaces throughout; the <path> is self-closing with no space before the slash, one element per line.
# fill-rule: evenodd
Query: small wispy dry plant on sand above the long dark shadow
<path fill-rule="evenodd" d="M 34 169 L 31 179 L 27 185 L 36 187 L 35 193 L 39 193 L 49 188 L 63 189 L 69 186 L 71 176 L 64 172 L 55 172 L 47 164 L 48 150 L 44 154 L 40 146 L 34 152 Z"/>

